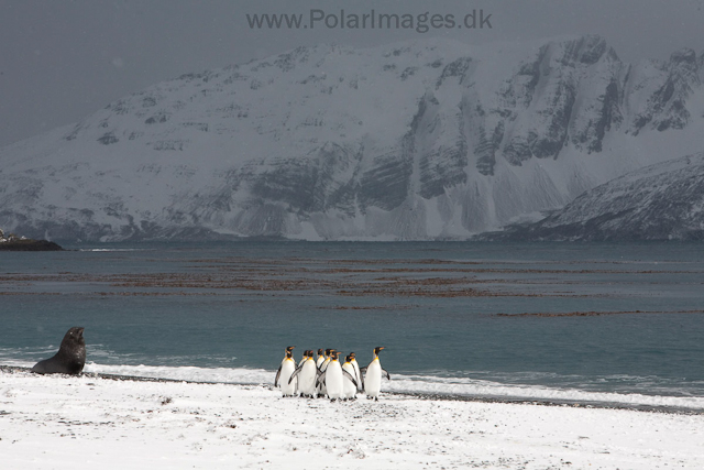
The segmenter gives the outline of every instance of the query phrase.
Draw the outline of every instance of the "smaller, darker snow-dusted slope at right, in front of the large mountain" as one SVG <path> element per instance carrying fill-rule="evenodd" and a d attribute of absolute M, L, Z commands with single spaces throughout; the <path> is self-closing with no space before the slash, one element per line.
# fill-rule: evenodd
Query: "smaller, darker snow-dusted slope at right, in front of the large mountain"
<path fill-rule="evenodd" d="M 704 153 L 628 173 L 584 193 L 537 223 L 491 237 L 704 240 Z"/>

